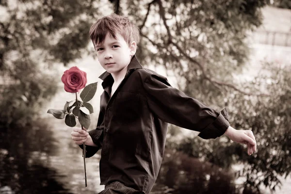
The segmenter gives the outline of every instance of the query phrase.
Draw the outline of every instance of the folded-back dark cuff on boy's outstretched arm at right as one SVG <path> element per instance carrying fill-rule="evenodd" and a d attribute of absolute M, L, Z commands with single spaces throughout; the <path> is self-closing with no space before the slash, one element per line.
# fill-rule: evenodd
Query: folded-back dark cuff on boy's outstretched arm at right
<path fill-rule="evenodd" d="M 226 129 L 230 126 L 228 121 L 228 112 L 226 108 L 224 108 L 219 113 L 216 120 L 211 123 L 206 129 L 202 130 L 198 136 L 202 139 L 215 139 L 217 137 L 220 137 L 226 132 Z"/>

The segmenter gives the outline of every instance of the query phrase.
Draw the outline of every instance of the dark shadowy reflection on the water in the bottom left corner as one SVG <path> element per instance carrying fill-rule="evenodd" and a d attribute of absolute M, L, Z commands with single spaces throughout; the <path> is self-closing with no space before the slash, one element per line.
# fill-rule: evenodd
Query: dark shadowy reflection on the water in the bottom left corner
<path fill-rule="evenodd" d="M 47 129 L 42 122 L 25 128 L 0 127 L 1 193 L 70 194 L 59 181 L 63 177 L 46 165 L 56 149 Z"/>

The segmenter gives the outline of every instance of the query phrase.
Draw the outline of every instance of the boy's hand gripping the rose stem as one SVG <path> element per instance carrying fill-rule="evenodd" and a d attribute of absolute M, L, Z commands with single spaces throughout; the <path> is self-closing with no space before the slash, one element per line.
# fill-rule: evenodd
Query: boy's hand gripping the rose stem
<path fill-rule="evenodd" d="M 72 140 L 75 142 L 77 145 L 81 145 L 85 142 L 86 145 L 88 146 L 94 146 L 95 144 L 92 141 L 91 136 L 87 132 L 87 129 L 83 127 L 81 128 L 73 128 L 71 132 Z"/>

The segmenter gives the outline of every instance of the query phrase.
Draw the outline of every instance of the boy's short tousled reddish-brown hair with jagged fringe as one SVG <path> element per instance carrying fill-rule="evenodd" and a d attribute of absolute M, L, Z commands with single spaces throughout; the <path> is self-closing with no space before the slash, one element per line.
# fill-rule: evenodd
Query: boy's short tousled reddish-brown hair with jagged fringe
<path fill-rule="evenodd" d="M 101 17 L 90 28 L 90 38 L 94 44 L 103 43 L 107 33 L 113 38 L 116 38 L 115 34 L 119 33 L 124 40 L 130 45 L 132 41 L 136 42 L 136 45 L 140 41 L 139 29 L 129 21 L 127 17 L 111 14 L 110 16 Z"/>

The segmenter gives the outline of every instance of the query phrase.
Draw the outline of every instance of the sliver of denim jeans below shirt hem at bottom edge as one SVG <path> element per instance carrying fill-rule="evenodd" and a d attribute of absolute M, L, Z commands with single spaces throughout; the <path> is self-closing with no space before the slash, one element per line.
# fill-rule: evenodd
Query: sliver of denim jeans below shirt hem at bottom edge
<path fill-rule="evenodd" d="M 140 191 L 125 186 L 121 182 L 115 181 L 105 186 L 99 194 L 143 194 Z"/>

